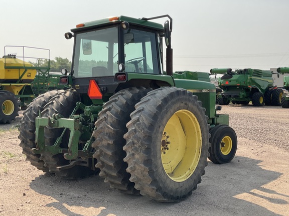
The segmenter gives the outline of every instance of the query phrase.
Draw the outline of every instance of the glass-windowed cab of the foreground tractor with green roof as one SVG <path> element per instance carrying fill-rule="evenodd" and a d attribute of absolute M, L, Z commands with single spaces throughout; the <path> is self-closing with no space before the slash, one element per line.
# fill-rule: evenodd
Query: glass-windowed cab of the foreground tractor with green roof
<path fill-rule="evenodd" d="M 104 101 L 130 85 L 157 88 L 160 84 L 155 80 L 164 80 L 162 41 L 165 37 L 167 46 L 170 46 L 171 28 L 169 21 L 164 29 L 162 24 L 149 19 L 166 16 L 141 19 L 117 16 L 78 24 L 65 33 L 67 39 L 74 37 L 74 50 L 72 70 L 62 70 L 65 77 L 60 78 L 60 83 L 72 84 L 83 94 L 99 88 Z M 138 81 L 141 74 L 146 78 L 141 77 Z M 92 78 L 96 88 L 89 84 Z M 167 78 L 170 85 L 174 85 L 173 78 Z"/>

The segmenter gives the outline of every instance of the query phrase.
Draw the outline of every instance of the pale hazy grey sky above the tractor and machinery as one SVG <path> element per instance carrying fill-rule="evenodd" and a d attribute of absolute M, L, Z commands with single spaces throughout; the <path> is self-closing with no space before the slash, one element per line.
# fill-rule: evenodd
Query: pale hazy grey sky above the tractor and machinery
<path fill-rule="evenodd" d="M 174 70 L 289 65 L 288 0 L 13 0 L 1 7 L 1 56 L 5 45 L 25 45 L 71 60 L 73 41 L 64 33 L 78 23 L 169 14 Z"/>

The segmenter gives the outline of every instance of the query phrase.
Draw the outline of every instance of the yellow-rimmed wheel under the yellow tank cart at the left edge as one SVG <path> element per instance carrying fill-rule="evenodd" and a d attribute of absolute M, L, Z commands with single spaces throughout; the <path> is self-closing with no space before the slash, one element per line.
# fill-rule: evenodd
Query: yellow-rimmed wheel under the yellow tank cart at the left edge
<path fill-rule="evenodd" d="M 18 116 L 19 101 L 10 91 L 0 90 L 0 123 L 11 123 Z"/>

